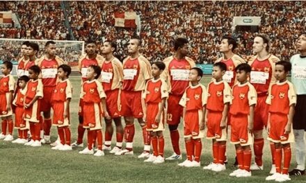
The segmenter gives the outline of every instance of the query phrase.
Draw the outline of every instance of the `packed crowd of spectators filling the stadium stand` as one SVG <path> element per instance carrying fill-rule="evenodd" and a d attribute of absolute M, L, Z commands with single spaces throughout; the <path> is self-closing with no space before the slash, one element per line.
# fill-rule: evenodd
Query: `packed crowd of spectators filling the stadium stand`
<path fill-rule="evenodd" d="M 1 10 L 17 13 L 22 28 L 0 28 L 0 37 L 69 40 L 65 14 L 60 1 L 6 2 Z M 211 63 L 220 56 L 218 44 L 223 35 L 239 41 L 239 55 L 252 54 L 252 40 L 257 33 L 232 33 L 232 17 L 260 16 L 259 33 L 272 41 L 271 53 L 282 60 L 294 54 L 293 43 L 305 30 L 306 2 L 303 1 L 69 1 L 67 20 L 75 40 L 116 40 L 122 59 L 126 44 L 136 30 L 113 26 L 113 12 L 134 10 L 141 17 L 140 37 L 143 55 L 149 60 L 163 60 L 172 53 L 175 37 L 188 37 L 191 57 Z M 30 11 L 29 11 L 30 10 Z M 31 21 L 29 21 L 31 20 Z M 245 57 L 246 58 L 246 57 Z"/>

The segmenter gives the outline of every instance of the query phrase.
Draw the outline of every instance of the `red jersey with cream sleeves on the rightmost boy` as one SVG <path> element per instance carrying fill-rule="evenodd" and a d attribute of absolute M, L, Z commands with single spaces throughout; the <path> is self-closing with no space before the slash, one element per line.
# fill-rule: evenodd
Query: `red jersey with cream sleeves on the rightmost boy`
<path fill-rule="evenodd" d="M 266 103 L 269 105 L 269 112 L 289 114 L 290 105 L 296 104 L 296 92 L 292 83 L 286 80 L 271 85 Z"/>

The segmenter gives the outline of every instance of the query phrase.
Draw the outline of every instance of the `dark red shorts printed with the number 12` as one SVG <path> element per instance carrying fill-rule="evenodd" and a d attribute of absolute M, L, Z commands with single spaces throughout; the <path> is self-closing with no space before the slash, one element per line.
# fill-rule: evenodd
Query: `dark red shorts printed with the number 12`
<path fill-rule="evenodd" d="M 169 125 L 178 125 L 181 121 L 181 117 L 183 116 L 183 108 L 182 105 L 179 105 L 179 101 L 182 96 L 169 95 L 168 98 L 168 108 L 167 108 L 167 123 Z"/>

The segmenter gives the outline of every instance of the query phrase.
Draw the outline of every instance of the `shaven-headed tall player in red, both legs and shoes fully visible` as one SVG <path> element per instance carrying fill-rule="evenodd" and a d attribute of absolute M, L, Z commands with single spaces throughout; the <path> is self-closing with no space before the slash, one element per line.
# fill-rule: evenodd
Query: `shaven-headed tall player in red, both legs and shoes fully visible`
<path fill-rule="evenodd" d="M 124 150 L 115 155 L 133 155 L 133 139 L 135 134 L 134 119 L 138 120 L 143 128 L 144 150 L 138 158 L 150 156 L 150 133 L 147 131 L 147 123 L 143 121 L 144 103 L 141 99 L 145 82 L 152 78 L 150 62 L 140 55 L 141 40 L 139 37 L 131 37 L 127 50 L 129 56 L 123 61 L 123 82 L 121 92 L 121 114 L 124 116 L 124 139 L 127 142 Z"/>

